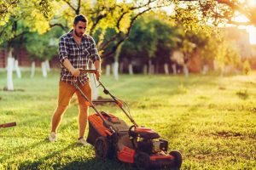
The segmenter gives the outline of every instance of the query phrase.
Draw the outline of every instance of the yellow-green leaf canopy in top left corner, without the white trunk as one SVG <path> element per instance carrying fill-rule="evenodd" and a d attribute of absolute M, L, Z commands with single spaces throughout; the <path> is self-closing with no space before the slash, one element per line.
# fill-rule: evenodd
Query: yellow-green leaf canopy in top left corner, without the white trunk
<path fill-rule="evenodd" d="M 2 7 L 2 13 L 0 13 L 0 16 L 2 16 L 0 20 L 0 35 L 2 37 L 0 44 L 15 39 L 20 32 L 28 29 L 38 31 L 41 34 L 49 31 L 49 19 L 55 12 L 50 4 L 47 0 L 11 0 L 0 3 Z M 53 13 L 49 13 L 49 11 Z M 24 27 L 15 28 L 17 23 Z"/>

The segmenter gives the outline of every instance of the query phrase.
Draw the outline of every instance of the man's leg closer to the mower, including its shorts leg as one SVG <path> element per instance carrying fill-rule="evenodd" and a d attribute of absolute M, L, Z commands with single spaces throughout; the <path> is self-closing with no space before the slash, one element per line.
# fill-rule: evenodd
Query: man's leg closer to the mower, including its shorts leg
<path fill-rule="evenodd" d="M 90 83 L 87 82 L 86 84 L 84 84 L 84 86 L 80 85 L 79 88 L 82 89 L 85 96 L 91 101 Z M 84 138 L 84 132 L 86 128 L 89 107 L 87 105 L 88 102 L 82 97 L 82 95 L 78 91 L 76 91 L 76 94 L 78 95 L 78 99 L 79 99 L 79 139 L 80 139 L 80 138 Z"/>

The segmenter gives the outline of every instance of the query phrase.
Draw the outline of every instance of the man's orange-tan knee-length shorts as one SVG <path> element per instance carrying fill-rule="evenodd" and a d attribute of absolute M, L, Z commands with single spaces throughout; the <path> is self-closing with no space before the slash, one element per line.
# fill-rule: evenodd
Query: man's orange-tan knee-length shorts
<path fill-rule="evenodd" d="M 79 83 L 79 88 L 84 92 L 85 96 L 91 101 L 91 88 L 90 83 L 86 82 L 86 84 L 81 85 Z M 68 106 L 70 100 L 73 97 L 73 94 L 76 93 L 79 99 L 79 105 L 89 106 L 88 102 L 82 97 L 79 90 L 75 88 L 73 85 L 68 84 L 67 82 L 59 82 L 59 101 L 58 105 L 60 106 Z"/>

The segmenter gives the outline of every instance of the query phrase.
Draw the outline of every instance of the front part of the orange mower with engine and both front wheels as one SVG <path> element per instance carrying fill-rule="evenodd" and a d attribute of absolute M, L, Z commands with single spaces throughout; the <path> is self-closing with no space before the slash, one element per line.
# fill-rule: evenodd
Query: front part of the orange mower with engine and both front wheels
<path fill-rule="evenodd" d="M 180 153 L 172 150 L 168 154 L 168 141 L 160 139 L 160 135 L 151 128 L 132 126 L 129 135 L 134 149 L 137 150 L 135 162 L 140 169 L 181 166 Z"/>

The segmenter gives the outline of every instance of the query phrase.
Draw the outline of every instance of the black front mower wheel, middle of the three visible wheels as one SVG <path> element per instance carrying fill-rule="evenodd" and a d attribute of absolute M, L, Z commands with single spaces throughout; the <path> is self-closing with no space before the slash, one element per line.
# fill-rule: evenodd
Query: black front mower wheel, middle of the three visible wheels
<path fill-rule="evenodd" d="M 135 156 L 135 163 L 138 169 L 148 169 L 150 165 L 150 158 L 148 154 L 139 152 Z"/>

